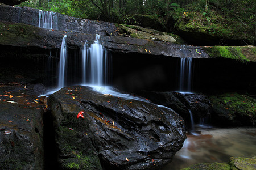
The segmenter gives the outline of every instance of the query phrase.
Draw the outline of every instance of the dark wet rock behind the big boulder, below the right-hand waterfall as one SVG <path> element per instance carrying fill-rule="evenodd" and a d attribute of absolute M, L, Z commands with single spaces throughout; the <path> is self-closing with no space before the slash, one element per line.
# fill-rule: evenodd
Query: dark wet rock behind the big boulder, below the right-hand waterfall
<path fill-rule="evenodd" d="M 181 94 L 179 92 L 143 91 L 142 95 L 153 103 L 174 109 L 184 118 L 185 124 L 190 124 L 190 113 L 193 117 L 204 118 L 210 114 L 210 100 L 203 94 Z"/>

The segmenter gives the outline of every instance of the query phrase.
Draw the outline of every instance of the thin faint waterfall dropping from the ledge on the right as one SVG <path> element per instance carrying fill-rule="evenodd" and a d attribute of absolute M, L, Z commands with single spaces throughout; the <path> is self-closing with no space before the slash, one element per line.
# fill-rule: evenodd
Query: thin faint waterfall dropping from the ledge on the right
<path fill-rule="evenodd" d="M 192 57 L 180 58 L 179 90 L 191 92 L 192 84 Z"/>

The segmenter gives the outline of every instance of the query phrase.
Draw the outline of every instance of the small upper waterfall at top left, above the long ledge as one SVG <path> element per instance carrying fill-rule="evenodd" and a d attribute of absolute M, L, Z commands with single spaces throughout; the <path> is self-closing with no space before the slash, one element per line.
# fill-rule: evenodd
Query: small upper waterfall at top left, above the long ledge
<path fill-rule="evenodd" d="M 39 10 L 38 27 L 47 29 L 58 29 L 57 14 L 51 11 Z"/>

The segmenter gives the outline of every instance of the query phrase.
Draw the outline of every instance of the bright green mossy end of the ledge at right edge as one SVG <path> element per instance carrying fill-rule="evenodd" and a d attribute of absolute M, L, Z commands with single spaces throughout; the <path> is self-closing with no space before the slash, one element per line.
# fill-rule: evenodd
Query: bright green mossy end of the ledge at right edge
<path fill-rule="evenodd" d="M 243 62 L 256 62 L 256 47 L 249 46 L 204 46 L 210 57 L 237 59 Z"/>

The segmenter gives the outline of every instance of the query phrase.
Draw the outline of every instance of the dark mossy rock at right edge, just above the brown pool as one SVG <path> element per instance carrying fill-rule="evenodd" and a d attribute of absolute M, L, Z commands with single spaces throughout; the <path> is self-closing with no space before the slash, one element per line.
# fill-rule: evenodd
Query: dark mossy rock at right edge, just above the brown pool
<path fill-rule="evenodd" d="M 209 97 L 214 124 L 221 125 L 255 125 L 256 100 L 247 95 L 226 93 Z"/>

